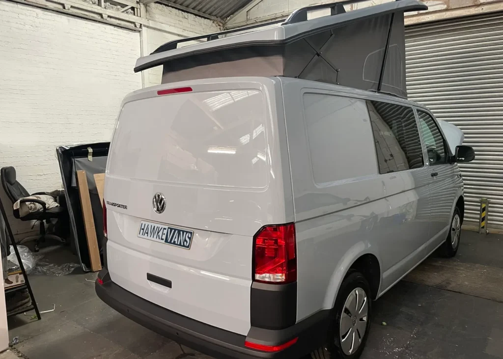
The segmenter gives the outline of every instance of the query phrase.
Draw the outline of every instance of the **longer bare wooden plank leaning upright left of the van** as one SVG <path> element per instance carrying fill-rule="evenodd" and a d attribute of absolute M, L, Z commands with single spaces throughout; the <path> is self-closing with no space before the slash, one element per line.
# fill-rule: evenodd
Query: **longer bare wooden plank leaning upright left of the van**
<path fill-rule="evenodd" d="M 77 186 L 82 207 L 82 217 L 86 228 L 86 239 L 88 241 L 89 258 L 91 260 L 91 270 L 98 272 L 101 270 L 100 248 L 96 237 L 93 209 L 91 208 L 91 197 L 89 196 L 88 179 L 86 171 L 77 171 Z"/>

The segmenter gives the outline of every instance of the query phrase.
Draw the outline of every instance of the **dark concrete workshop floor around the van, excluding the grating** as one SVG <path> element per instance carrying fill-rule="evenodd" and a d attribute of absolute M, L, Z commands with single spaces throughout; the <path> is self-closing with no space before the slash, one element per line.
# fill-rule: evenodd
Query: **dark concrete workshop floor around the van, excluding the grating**
<path fill-rule="evenodd" d="M 456 260 L 503 267 L 501 253 L 503 236 L 465 231 Z M 78 271 L 64 277 L 31 276 L 40 310 L 52 304 L 56 310 L 41 321 L 10 318 L 11 339 L 20 340 L 16 348 L 30 359 L 210 359 L 107 307 L 96 297 L 94 283 L 86 281 L 95 277 Z M 419 358 L 503 358 L 503 303 L 398 283 L 374 302 L 362 359 Z"/>

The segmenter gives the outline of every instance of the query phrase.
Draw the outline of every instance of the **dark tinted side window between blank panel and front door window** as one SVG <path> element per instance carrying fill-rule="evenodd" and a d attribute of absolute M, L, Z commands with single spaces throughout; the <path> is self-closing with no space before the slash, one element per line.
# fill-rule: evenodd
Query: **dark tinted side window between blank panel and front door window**
<path fill-rule="evenodd" d="M 423 167 L 423 150 L 413 110 L 379 101 L 367 101 L 367 107 L 379 173 Z"/>

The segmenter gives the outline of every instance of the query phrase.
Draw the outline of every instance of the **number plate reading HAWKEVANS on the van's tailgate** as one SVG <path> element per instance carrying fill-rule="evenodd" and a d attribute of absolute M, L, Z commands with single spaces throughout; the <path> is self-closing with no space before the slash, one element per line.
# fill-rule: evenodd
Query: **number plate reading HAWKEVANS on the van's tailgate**
<path fill-rule="evenodd" d="M 190 249 L 193 236 L 193 231 L 147 221 L 141 221 L 138 230 L 138 237 L 140 238 L 171 244 L 184 249 Z"/>

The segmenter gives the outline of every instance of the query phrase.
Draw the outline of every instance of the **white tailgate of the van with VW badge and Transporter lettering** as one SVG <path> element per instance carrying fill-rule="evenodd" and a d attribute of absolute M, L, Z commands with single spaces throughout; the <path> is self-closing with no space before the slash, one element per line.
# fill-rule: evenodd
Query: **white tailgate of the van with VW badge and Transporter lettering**
<path fill-rule="evenodd" d="M 206 79 L 124 100 L 105 181 L 112 281 L 247 334 L 253 236 L 293 221 L 277 91 L 270 78 Z"/>

